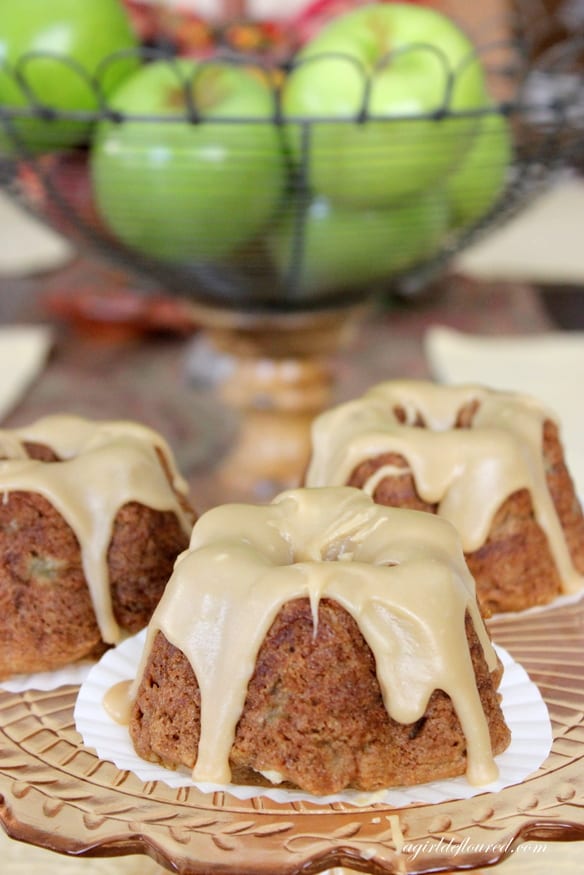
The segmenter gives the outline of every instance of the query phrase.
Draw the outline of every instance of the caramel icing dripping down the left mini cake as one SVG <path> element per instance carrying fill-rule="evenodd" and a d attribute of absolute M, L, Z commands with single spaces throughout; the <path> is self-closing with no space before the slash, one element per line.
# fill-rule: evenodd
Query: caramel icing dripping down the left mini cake
<path fill-rule="evenodd" d="M 62 461 L 29 459 L 25 442 L 51 447 Z M 116 514 L 128 502 L 172 511 L 185 532 L 191 522 L 180 503 L 186 483 L 168 445 L 156 432 L 132 422 L 91 422 L 75 416 L 49 416 L 27 428 L 0 432 L 0 493 L 44 496 L 74 531 L 83 572 L 104 641 L 115 644 L 121 630 L 115 620 L 107 551 Z M 157 449 L 171 473 L 169 482 Z M 173 488 L 174 487 L 174 488 Z M 175 491 L 176 490 L 176 491 Z"/>

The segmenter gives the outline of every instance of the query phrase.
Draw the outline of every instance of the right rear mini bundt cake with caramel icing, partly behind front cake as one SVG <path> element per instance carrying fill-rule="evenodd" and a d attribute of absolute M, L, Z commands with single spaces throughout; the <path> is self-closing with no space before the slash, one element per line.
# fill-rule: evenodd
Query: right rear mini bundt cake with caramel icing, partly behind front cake
<path fill-rule="evenodd" d="M 355 486 L 458 529 L 485 613 L 584 584 L 584 517 L 559 424 L 481 386 L 389 381 L 316 418 L 307 486 Z"/>

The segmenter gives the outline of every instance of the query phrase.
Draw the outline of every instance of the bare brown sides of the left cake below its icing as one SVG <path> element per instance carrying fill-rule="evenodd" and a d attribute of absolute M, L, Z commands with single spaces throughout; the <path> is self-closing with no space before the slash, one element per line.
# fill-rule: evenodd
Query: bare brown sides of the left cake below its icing
<path fill-rule="evenodd" d="M 171 512 L 123 506 L 108 551 L 116 619 L 128 632 L 149 621 L 187 538 Z M 43 496 L 0 502 L 0 678 L 49 671 L 104 648 L 79 542 Z"/>

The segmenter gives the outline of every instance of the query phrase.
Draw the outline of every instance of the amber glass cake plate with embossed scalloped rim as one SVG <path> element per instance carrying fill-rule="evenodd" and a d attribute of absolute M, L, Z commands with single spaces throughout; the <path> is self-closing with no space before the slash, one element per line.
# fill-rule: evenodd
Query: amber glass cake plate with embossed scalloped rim
<path fill-rule="evenodd" d="M 142 783 L 83 747 L 77 687 L 0 693 L 0 818 L 14 838 L 66 854 L 147 853 L 183 875 L 459 871 L 514 843 L 584 839 L 584 600 L 497 618 L 494 639 L 537 683 L 554 742 L 520 785 L 468 800 L 354 808 L 239 801 Z"/>

